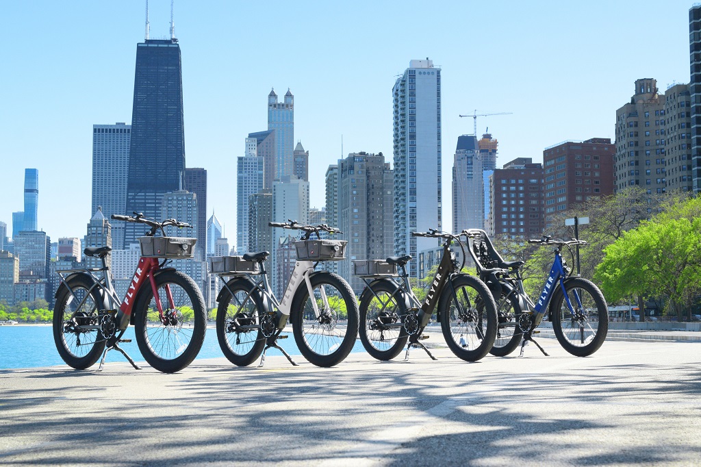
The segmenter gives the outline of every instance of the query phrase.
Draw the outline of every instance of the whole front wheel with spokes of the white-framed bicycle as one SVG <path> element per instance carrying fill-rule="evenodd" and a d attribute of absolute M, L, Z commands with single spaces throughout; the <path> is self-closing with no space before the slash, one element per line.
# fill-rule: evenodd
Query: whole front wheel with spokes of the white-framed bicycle
<path fill-rule="evenodd" d="M 312 294 L 302 283 L 292 301 L 290 320 L 301 354 L 318 367 L 338 365 L 358 337 L 358 301 L 351 286 L 334 273 L 315 273 Z"/>

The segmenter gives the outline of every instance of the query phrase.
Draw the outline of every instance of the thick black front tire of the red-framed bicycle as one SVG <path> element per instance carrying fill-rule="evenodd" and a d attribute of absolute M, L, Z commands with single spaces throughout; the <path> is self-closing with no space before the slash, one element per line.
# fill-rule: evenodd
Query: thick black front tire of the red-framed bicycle
<path fill-rule="evenodd" d="M 192 336 L 186 349 L 176 358 L 162 358 L 154 353 L 147 339 L 149 304 L 154 297 L 154 292 L 151 290 L 150 285 L 144 285 L 139 292 L 139 297 L 137 297 L 137 302 L 134 307 L 134 327 L 136 341 L 137 344 L 139 344 L 139 351 L 141 351 L 142 356 L 144 356 L 144 359 L 149 365 L 159 372 L 175 373 L 192 363 L 192 360 L 195 359 L 202 347 L 202 343 L 205 339 L 205 330 L 207 329 L 205 300 L 195 281 L 180 271 L 163 271 L 158 273 L 154 280 L 156 281 L 156 290 L 159 290 L 161 286 L 166 284 L 174 284 L 181 287 L 189 298 L 189 303 L 194 312 Z M 168 306 L 167 301 L 163 304 L 164 308 L 166 306 Z"/>

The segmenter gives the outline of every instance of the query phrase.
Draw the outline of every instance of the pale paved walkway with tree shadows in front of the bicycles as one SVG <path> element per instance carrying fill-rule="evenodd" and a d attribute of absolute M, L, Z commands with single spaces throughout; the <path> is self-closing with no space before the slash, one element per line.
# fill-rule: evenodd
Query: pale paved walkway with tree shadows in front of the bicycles
<path fill-rule="evenodd" d="M 701 343 L 541 343 L 551 357 L 4 370 L 0 464 L 699 465 Z"/>

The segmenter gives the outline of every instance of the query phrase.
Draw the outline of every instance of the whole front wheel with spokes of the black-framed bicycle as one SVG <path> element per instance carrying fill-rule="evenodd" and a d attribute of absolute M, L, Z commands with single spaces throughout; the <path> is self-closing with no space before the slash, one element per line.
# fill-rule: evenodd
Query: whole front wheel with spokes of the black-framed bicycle
<path fill-rule="evenodd" d="M 494 345 L 496 304 L 482 280 L 467 274 L 449 279 L 438 301 L 438 311 L 443 337 L 458 358 L 475 362 Z"/>

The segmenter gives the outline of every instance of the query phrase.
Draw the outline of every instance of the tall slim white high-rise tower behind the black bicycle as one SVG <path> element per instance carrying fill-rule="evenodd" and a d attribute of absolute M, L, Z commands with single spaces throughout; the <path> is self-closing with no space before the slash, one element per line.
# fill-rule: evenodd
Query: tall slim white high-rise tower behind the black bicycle
<path fill-rule="evenodd" d="M 411 232 L 442 229 L 440 73 L 428 57 L 411 60 L 392 89 L 397 255 L 416 257 L 437 243 Z M 408 266 L 409 275 L 416 277 L 415 262 Z"/>

